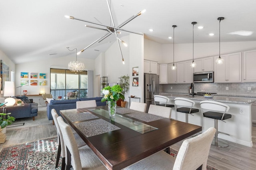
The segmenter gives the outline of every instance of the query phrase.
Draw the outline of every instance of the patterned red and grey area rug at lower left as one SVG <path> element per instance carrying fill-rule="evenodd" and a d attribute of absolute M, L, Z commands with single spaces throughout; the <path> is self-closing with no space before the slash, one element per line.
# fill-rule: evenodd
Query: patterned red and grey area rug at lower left
<path fill-rule="evenodd" d="M 57 137 L 8 146 L 0 152 L 0 170 L 60 170 L 55 168 Z"/>

